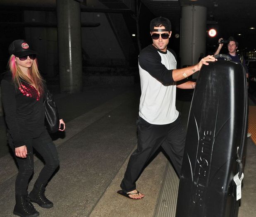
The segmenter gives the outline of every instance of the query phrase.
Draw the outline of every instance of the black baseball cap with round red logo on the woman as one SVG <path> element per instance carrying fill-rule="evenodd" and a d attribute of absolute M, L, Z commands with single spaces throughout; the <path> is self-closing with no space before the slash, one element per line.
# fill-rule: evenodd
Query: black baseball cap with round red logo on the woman
<path fill-rule="evenodd" d="M 13 54 L 16 57 L 23 57 L 29 54 L 38 54 L 36 51 L 32 50 L 29 43 L 23 39 L 13 41 L 9 45 L 8 50 L 10 55 Z"/>

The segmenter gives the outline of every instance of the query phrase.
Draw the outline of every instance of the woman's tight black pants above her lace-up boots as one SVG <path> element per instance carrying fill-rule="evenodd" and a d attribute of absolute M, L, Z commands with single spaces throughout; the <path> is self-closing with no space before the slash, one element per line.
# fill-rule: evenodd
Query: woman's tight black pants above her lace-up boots
<path fill-rule="evenodd" d="M 10 136 L 8 139 L 9 144 L 14 151 L 15 148 L 12 145 Z M 55 169 L 59 166 L 59 158 L 55 144 L 53 143 L 46 130 L 43 131 L 43 133 L 38 138 L 31 138 L 26 140 L 25 144 L 28 152 L 27 157 L 21 158 L 15 156 L 19 169 L 15 182 L 15 193 L 19 195 L 26 194 L 29 179 L 33 174 L 33 148 L 36 149 L 36 151 L 43 157 L 43 160 L 45 161 L 45 166 L 41 170 L 38 179 L 36 180 L 36 184 L 46 185 Z"/>

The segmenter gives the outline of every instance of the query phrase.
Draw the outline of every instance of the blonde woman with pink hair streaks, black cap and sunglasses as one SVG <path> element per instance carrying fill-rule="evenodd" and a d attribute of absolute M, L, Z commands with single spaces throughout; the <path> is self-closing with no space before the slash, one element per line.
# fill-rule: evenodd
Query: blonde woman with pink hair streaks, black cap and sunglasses
<path fill-rule="evenodd" d="M 44 208 L 53 207 L 44 191 L 59 166 L 59 159 L 55 144 L 44 126 L 43 100 L 47 89 L 38 72 L 37 53 L 25 40 L 13 41 L 9 53 L 9 71 L 1 81 L 1 90 L 8 142 L 19 168 L 13 213 L 21 217 L 36 217 L 39 212 L 31 201 Z M 64 124 L 64 128 L 59 130 L 65 130 L 62 119 L 60 124 Z M 45 166 L 28 195 L 29 179 L 33 174 L 33 148 L 43 157 Z"/>

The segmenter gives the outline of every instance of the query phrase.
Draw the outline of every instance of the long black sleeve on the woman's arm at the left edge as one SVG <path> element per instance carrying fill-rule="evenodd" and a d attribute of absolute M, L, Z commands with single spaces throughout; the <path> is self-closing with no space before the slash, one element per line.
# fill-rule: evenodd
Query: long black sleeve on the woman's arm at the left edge
<path fill-rule="evenodd" d="M 5 112 L 5 121 L 10 135 L 12 136 L 13 144 L 15 147 L 25 145 L 17 122 L 16 91 L 14 84 L 9 81 L 2 80 L 1 94 L 2 105 Z"/>

